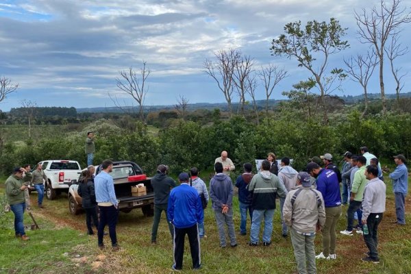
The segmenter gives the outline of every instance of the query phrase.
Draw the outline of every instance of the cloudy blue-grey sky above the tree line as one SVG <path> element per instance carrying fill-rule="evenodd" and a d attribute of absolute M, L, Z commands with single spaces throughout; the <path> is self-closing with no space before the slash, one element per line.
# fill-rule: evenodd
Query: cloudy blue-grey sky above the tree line
<path fill-rule="evenodd" d="M 21 107 L 23 100 L 38 106 L 94 108 L 136 104 L 116 87 L 119 71 L 142 62 L 147 78 L 145 105 L 173 105 L 180 96 L 189 103 L 224 102 L 216 82 L 204 72 L 206 59 L 219 50 L 240 49 L 253 58 L 256 70 L 275 64 L 290 77 L 275 88 L 272 99 L 292 84 L 308 79 L 297 61 L 272 56 L 271 41 L 284 33 L 286 23 L 329 21 L 347 27 L 351 47 L 330 58 L 329 69 L 344 68 L 343 58 L 368 50 L 358 41 L 354 11 L 369 10 L 371 0 L 37 0 L 0 1 L 0 76 L 18 84 L 18 90 L 0 102 L 0 110 Z M 411 0 L 403 0 L 411 7 Z M 409 9 L 408 9 L 409 10 Z M 411 25 L 400 41 L 410 45 Z M 410 54 L 396 60 L 407 73 Z M 388 64 L 388 63 L 387 63 Z M 403 92 L 410 91 L 411 73 Z M 388 67 L 386 92 L 395 93 Z M 377 70 L 369 92 L 379 92 Z M 257 99 L 264 99 L 262 85 Z M 347 79 L 335 95 L 360 95 L 361 87 Z M 238 101 L 238 98 L 234 98 Z"/>

